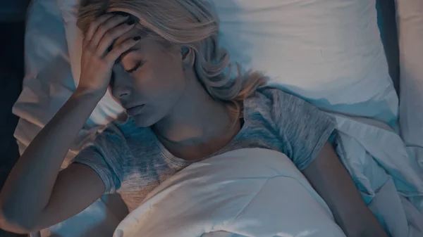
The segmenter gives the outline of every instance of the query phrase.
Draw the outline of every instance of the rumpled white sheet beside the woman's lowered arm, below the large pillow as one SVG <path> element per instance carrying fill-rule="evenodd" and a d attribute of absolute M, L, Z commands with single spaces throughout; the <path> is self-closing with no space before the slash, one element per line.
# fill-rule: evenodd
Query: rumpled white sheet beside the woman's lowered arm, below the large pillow
<path fill-rule="evenodd" d="M 423 236 L 423 166 L 385 124 L 335 116 L 343 163 L 369 209 L 391 236 Z"/>

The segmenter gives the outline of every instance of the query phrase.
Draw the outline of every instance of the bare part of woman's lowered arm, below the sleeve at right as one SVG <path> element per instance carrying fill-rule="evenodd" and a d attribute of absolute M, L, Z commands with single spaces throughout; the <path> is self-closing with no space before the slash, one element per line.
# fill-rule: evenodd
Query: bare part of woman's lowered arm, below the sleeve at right
<path fill-rule="evenodd" d="M 303 173 L 348 237 L 388 237 L 362 200 L 331 143 L 324 144 L 316 160 Z"/>

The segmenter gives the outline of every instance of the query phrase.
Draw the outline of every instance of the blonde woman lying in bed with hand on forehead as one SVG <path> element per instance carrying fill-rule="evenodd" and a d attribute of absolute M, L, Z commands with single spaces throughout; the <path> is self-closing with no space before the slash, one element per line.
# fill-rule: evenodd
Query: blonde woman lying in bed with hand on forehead
<path fill-rule="evenodd" d="M 329 142 L 330 117 L 262 88 L 257 72 L 225 76 L 218 18 L 204 1 L 85 1 L 78 24 L 85 32 L 78 89 L 13 167 L 0 193 L 1 228 L 44 229 L 116 191 L 133 210 L 192 162 L 267 148 L 293 160 L 348 236 L 386 236 Z M 59 172 L 109 85 L 130 117 Z"/>

